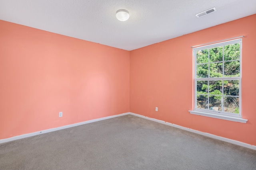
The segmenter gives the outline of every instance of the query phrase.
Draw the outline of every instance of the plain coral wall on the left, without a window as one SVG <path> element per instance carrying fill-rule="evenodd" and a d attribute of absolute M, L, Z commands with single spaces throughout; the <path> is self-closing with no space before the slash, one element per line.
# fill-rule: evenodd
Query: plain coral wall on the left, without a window
<path fill-rule="evenodd" d="M 0 20 L 0 139 L 128 112 L 129 55 Z"/>

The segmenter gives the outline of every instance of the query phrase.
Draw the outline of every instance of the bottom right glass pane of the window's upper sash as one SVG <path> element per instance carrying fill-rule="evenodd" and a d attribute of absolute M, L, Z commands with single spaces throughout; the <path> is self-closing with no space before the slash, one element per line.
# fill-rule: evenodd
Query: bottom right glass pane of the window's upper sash
<path fill-rule="evenodd" d="M 239 61 L 224 62 L 224 76 L 225 77 L 239 77 L 240 76 L 240 62 Z"/>

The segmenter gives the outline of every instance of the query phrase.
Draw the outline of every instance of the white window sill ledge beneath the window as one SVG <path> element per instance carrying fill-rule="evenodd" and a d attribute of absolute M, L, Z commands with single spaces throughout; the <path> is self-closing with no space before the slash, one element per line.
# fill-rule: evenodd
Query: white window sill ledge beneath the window
<path fill-rule="evenodd" d="M 189 112 L 190 112 L 190 114 L 194 114 L 194 115 L 213 117 L 213 118 L 216 118 L 216 119 L 224 119 L 224 120 L 236 121 L 236 122 L 241 122 L 241 123 L 246 123 L 248 121 L 247 119 L 242 119 L 241 117 L 217 115 L 217 114 L 206 113 L 206 112 L 202 112 L 202 111 L 189 110 Z"/>

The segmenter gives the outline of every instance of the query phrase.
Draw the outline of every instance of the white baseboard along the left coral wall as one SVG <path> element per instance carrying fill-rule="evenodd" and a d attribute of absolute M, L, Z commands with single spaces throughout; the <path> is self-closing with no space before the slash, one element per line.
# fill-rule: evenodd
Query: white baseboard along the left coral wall
<path fill-rule="evenodd" d="M 15 141 L 15 140 L 26 138 L 26 137 L 32 137 L 32 136 L 36 136 L 36 135 L 40 135 L 40 134 L 44 134 L 44 133 L 58 131 L 58 130 L 61 130 L 61 129 L 66 129 L 66 128 L 70 128 L 70 127 L 84 125 L 84 124 L 87 124 L 87 123 L 92 123 L 92 122 L 101 121 L 101 120 L 110 119 L 110 118 L 113 118 L 113 117 L 118 117 L 118 116 L 123 116 L 123 115 L 128 115 L 128 114 L 130 114 L 130 112 L 122 113 L 122 114 L 119 114 L 119 115 L 108 116 L 108 117 L 102 117 L 102 118 L 99 118 L 99 119 L 83 121 L 83 122 L 80 122 L 80 123 L 65 125 L 65 126 L 61 126 L 61 127 L 52 128 L 52 129 L 46 129 L 46 130 L 42 130 L 42 131 L 38 131 L 38 132 L 33 132 L 33 133 L 28 133 L 28 134 L 24 134 L 24 135 L 15 136 L 15 137 L 10 137 L 10 138 L 7 138 L 7 139 L 0 139 L 0 143 Z"/>

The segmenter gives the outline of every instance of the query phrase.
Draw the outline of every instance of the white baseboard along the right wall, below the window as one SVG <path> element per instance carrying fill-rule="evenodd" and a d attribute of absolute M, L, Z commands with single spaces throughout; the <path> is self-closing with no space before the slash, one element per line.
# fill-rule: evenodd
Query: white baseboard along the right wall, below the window
<path fill-rule="evenodd" d="M 235 144 L 235 145 L 239 145 L 241 147 L 246 147 L 246 148 L 250 148 L 250 149 L 256 150 L 256 146 L 254 146 L 254 145 L 250 145 L 250 144 L 247 144 L 247 143 L 235 141 L 235 140 L 228 139 L 228 138 L 225 138 L 225 137 L 220 137 L 220 136 L 217 136 L 217 135 L 212 135 L 210 133 L 200 132 L 200 131 L 197 131 L 197 130 L 194 130 L 194 129 L 190 129 L 190 128 L 187 128 L 187 127 L 175 125 L 175 124 L 168 123 L 168 122 L 165 122 L 165 121 L 162 121 L 162 120 L 146 117 L 146 116 L 143 116 L 143 115 L 138 115 L 136 113 L 131 113 L 130 112 L 130 114 L 134 115 L 134 116 L 142 117 L 144 119 L 148 119 L 148 120 L 151 120 L 151 121 L 156 121 L 158 123 L 162 123 L 162 124 L 165 124 L 165 125 L 169 125 L 169 126 L 172 126 L 172 127 L 176 127 L 176 128 L 179 128 L 179 129 L 182 129 L 182 130 L 185 130 L 185 131 L 190 131 L 190 132 L 193 132 L 193 133 L 197 133 L 199 135 L 211 137 L 211 138 L 214 138 L 214 139 L 218 139 L 220 141 L 224 141 L 224 142 L 232 143 L 232 144 Z"/>

